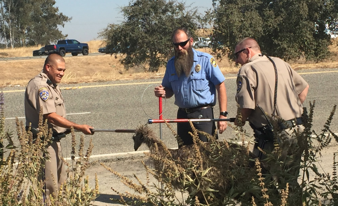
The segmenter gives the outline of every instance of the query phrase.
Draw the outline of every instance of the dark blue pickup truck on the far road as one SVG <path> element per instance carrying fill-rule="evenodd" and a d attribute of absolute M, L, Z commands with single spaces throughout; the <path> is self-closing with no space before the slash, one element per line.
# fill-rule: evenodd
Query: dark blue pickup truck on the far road
<path fill-rule="evenodd" d="M 78 54 L 88 55 L 89 47 L 86 43 L 80 43 L 76 40 L 59 40 L 57 44 L 45 45 L 45 50 L 49 54 L 57 53 L 60 56 L 65 56 L 66 53 L 72 53 L 73 56 Z"/>

